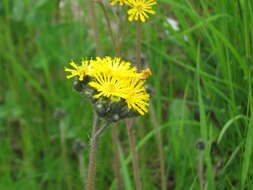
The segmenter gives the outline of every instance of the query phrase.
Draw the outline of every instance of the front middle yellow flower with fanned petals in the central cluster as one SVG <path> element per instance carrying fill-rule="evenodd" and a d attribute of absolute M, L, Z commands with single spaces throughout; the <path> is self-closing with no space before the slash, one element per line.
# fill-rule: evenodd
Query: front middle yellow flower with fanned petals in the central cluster
<path fill-rule="evenodd" d="M 95 76 L 95 81 L 91 81 L 89 86 L 95 88 L 99 94 L 95 97 L 105 96 L 111 98 L 112 96 L 123 96 L 123 89 L 126 86 L 125 81 L 117 80 L 111 76 L 106 76 L 104 74 L 97 74 Z"/>

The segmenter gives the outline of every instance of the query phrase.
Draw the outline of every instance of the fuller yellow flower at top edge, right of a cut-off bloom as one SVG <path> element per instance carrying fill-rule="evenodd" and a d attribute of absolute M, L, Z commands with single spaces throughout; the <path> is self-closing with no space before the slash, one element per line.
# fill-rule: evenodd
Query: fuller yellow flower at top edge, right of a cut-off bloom
<path fill-rule="evenodd" d="M 155 0 L 128 0 L 126 2 L 127 5 L 131 7 L 128 10 L 128 20 L 141 20 L 145 22 L 148 18 L 148 14 L 155 14 L 155 11 L 152 10 L 152 6 L 156 4 Z"/>

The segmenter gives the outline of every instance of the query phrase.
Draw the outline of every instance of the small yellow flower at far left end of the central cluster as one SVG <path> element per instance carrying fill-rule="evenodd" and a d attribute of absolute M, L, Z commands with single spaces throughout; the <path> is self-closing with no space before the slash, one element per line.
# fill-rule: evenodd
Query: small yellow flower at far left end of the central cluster
<path fill-rule="evenodd" d="M 82 61 L 82 65 L 78 66 L 73 61 L 69 63 L 74 69 L 69 69 L 65 67 L 65 71 L 70 72 L 70 75 L 67 75 L 67 79 L 78 76 L 79 80 L 82 81 L 85 75 L 88 75 L 90 66 L 89 61 Z"/>

